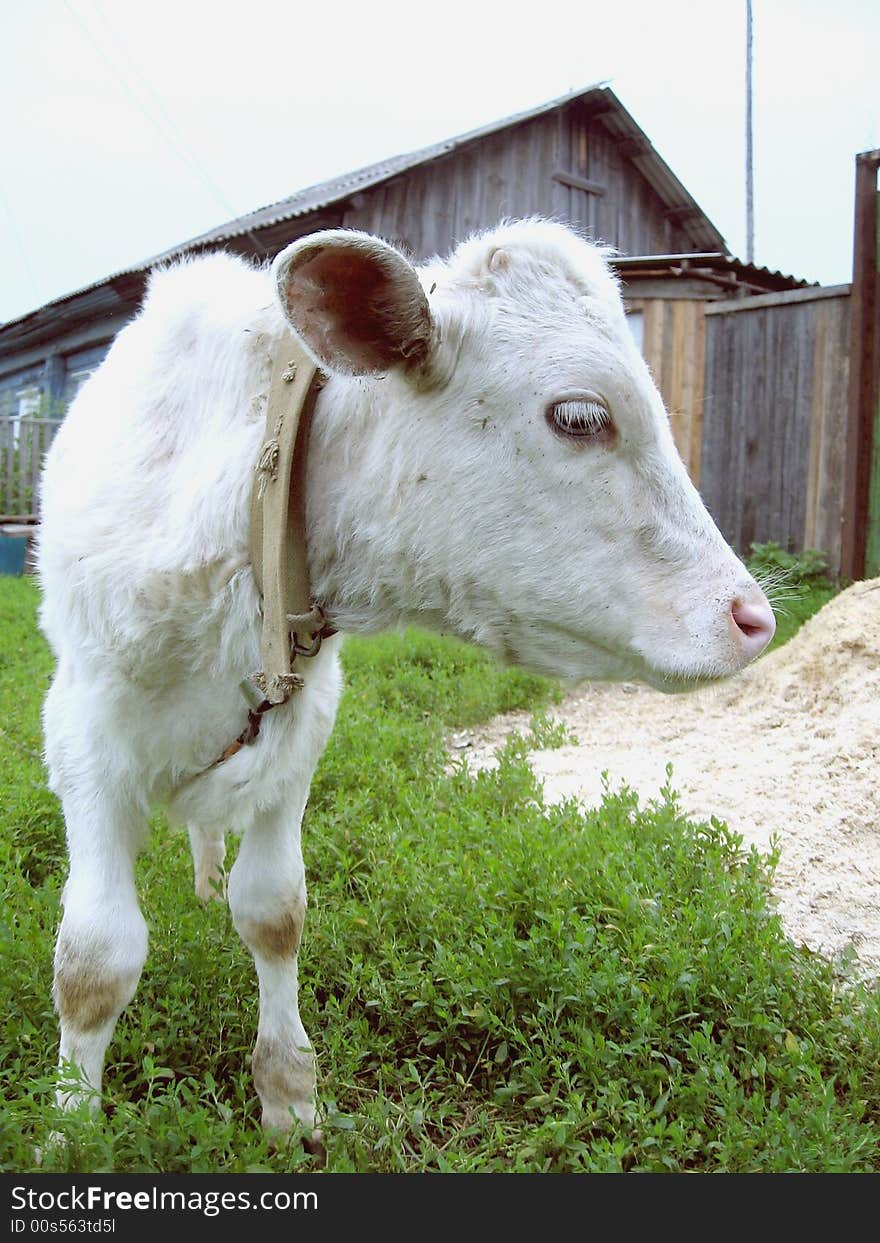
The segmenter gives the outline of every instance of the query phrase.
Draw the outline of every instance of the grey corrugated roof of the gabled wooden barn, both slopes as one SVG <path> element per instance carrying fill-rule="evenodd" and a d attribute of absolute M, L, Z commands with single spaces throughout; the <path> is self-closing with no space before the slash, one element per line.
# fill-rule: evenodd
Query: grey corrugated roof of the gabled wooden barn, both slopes
<path fill-rule="evenodd" d="M 687 221 L 691 234 L 704 246 L 715 251 L 726 251 L 727 245 L 725 239 L 717 231 L 708 216 L 706 216 L 702 209 L 697 205 L 694 198 L 687 193 L 681 181 L 675 177 L 669 165 L 660 158 L 660 155 L 658 155 L 648 135 L 630 117 L 614 92 L 603 83 L 595 83 L 582 91 L 572 91 L 556 99 L 548 99 L 546 103 L 529 108 L 526 112 L 518 112 L 510 117 L 502 117 L 498 121 L 493 121 L 490 124 L 480 127 L 479 129 L 469 131 L 465 134 L 459 134 L 455 138 L 447 138 L 442 142 L 433 143 L 429 147 L 421 147 L 414 152 L 394 155 L 389 159 L 379 160 L 375 164 L 355 169 L 352 173 L 344 173 L 328 181 L 322 181 L 318 185 L 311 185 L 303 190 L 297 190 L 296 194 L 292 194 L 286 199 L 281 199 L 265 208 L 259 208 L 256 211 L 239 216 L 235 220 L 229 220 L 225 224 L 218 225 L 216 229 L 211 229 L 196 237 L 190 237 L 188 241 L 181 242 L 178 246 L 173 246 L 159 255 L 154 255 L 152 259 L 144 260 L 140 264 L 121 268 L 119 271 L 112 272 L 102 280 L 94 281 L 92 285 L 87 285 L 81 290 L 53 298 L 51 302 L 45 303 L 44 307 L 29 312 L 27 316 L 20 317 L 20 319 L 9 321 L 6 324 L 1 324 L 0 333 L 7 327 L 19 324 L 24 319 L 30 318 L 30 316 L 37 314 L 40 311 L 56 307 L 72 298 L 78 298 L 92 290 L 97 290 L 109 283 L 111 281 L 118 281 L 121 277 L 133 276 L 135 273 L 144 273 L 158 264 L 176 259 L 193 250 L 216 246 L 235 237 L 259 235 L 261 229 L 267 229 L 272 225 L 281 224 L 285 220 L 295 220 L 300 216 L 306 216 L 313 211 L 319 211 L 324 208 L 332 206 L 353 194 L 367 190 L 374 185 L 379 185 L 383 181 L 388 181 L 413 168 L 428 164 L 431 160 L 440 159 L 445 155 L 450 155 L 470 143 L 479 142 L 480 139 L 487 138 L 488 135 L 498 133 L 502 129 L 525 124 L 528 121 L 533 121 L 548 112 L 553 112 L 557 108 L 575 102 L 589 102 L 594 113 L 602 117 L 602 122 L 605 128 L 619 139 L 628 140 L 625 147 L 626 158 L 635 164 L 645 180 L 667 205 L 670 213 L 679 215 L 682 221 Z"/>

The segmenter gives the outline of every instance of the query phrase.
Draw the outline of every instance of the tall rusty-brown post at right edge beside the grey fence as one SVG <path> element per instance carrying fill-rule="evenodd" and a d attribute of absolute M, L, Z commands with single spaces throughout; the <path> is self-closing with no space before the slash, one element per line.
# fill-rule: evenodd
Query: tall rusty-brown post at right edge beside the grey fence
<path fill-rule="evenodd" d="M 878 168 L 880 150 L 855 157 L 853 293 L 849 321 L 849 419 L 840 532 L 840 573 L 865 573 L 874 421 L 878 410 Z"/>

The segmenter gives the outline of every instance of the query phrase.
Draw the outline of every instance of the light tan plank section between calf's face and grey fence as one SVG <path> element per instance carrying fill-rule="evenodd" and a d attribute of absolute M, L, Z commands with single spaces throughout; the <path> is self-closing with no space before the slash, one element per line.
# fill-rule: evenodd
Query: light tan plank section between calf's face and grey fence
<path fill-rule="evenodd" d="M 643 314 L 641 353 L 666 403 L 681 460 L 697 487 L 707 305 L 697 298 L 626 298 L 626 310 Z"/>

